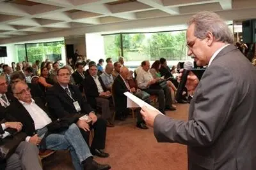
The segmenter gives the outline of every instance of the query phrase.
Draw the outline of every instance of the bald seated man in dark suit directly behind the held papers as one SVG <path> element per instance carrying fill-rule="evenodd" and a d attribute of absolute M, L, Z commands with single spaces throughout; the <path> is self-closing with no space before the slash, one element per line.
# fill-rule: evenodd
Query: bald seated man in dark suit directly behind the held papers
<path fill-rule="evenodd" d="M 136 89 L 130 87 L 128 83 L 128 78 L 130 76 L 129 69 L 127 67 L 121 67 L 120 74 L 116 77 L 113 83 L 113 96 L 115 98 L 115 107 L 116 107 L 116 117 L 119 120 L 125 120 L 126 115 L 129 113 L 129 108 L 127 108 L 127 97 L 124 95 L 124 92 L 135 93 Z M 147 103 L 150 103 L 149 99 Z M 143 121 L 140 110 L 137 112 L 137 127 L 141 129 L 148 129 Z"/>

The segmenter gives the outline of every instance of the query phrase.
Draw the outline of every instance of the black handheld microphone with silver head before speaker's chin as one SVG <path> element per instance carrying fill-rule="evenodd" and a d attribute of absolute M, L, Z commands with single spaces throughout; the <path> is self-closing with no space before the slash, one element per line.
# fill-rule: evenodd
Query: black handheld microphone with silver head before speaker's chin
<path fill-rule="evenodd" d="M 180 101 L 182 98 L 182 92 L 184 91 L 189 71 L 193 68 L 193 64 L 190 61 L 184 63 L 184 69 L 182 71 L 181 80 L 176 93 L 176 101 Z"/>

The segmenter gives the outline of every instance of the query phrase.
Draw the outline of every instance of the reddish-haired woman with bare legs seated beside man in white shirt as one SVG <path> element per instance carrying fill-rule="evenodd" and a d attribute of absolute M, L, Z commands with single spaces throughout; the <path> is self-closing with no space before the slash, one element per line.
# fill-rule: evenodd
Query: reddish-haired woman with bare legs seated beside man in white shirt
<path fill-rule="evenodd" d="M 161 67 L 161 62 L 159 60 L 156 60 L 152 66 L 151 69 L 149 70 L 150 73 L 152 74 L 153 78 L 161 78 L 161 73 L 159 71 Z M 177 92 L 177 88 L 175 87 L 175 85 L 173 85 L 172 81 L 170 80 L 166 80 L 166 83 L 170 89 L 170 92 L 172 93 L 172 97 L 175 96 L 175 92 Z M 174 101 L 174 98 L 173 98 Z M 173 107 L 176 107 L 175 105 L 172 105 Z"/>

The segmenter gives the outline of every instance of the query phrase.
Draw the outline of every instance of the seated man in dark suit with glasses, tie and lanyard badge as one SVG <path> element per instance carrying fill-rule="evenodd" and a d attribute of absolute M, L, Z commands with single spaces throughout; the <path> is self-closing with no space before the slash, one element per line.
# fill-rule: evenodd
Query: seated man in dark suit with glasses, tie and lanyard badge
<path fill-rule="evenodd" d="M 89 131 L 94 129 L 91 152 L 99 157 L 108 157 L 109 154 L 102 151 L 105 148 L 106 141 L 106 121 L 96 117 L 76 85 L 68 84 L 70 80 L 68 69 L 60 68 L 57 72 L 57 80 L 58 83 L 54 84 L 46 93 L 50 113 L 56 118 L 76 113 L 81 115 L 87 114 L 92 119 L 91 125 L 83 120 L 77 121 L 83 138 L 89 143 Z"/>

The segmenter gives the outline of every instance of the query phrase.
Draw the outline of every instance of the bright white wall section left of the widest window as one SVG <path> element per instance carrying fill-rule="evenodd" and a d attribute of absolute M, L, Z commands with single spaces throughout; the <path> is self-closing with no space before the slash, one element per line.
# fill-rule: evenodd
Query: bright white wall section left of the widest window
<path fill-rule="evenodd" d="M 85 37 L 87 59 L 96 63 L 99 62 L 99 59 L 105 59 L 103 36 L 100 34 L 85 34 Z"/>

